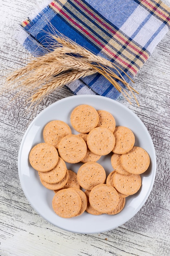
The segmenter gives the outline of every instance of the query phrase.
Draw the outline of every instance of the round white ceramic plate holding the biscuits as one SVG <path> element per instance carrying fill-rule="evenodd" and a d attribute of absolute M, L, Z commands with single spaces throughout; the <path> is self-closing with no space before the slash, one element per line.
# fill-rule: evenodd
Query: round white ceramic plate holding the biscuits
<path fill-rule="evenodd" d="M 102 214 L 94 216 L 84 212 L 74 218 L 61 218 L 52 209 L 54 192 L 42 186 L 38 172 L 29 164 L 29 152 L 35 144 L 44 142 L 42 131 L 44 126 L 52 120 L 62 120 L 68 125 L 73 108 L 80 104 L 88 104 L 97 110 L 107 110 L 114 117 L 116 125 L 126 126 L 135 134 L 135 146 L 144 148 L 150 155 L 150 166 L 141 175 L 142 186 L 135 194 L 126 198 L 124 209 L 113 216 Z M 76 133 L 72 129 L 73 133 Z M 103 156 L 98 161 L 105 168 L 106 173 L 113 171 L 110 156 Z M 67 167 L 77 172 L 80 164 L 67 164 Z M 96 95 L 76 95 L 61 99 L 44 109 L 29 125 L 22 139 L 18 156 L 18 173 L 22 189 L 32 207 L 44 219 L 53 225 L 75 233 L 94 234 L 114 229 L 132 218 L 146 202 L 155 180 L 156 156 L 152 139 L 142 121 L 128 108 L 112 99 Z"/>

